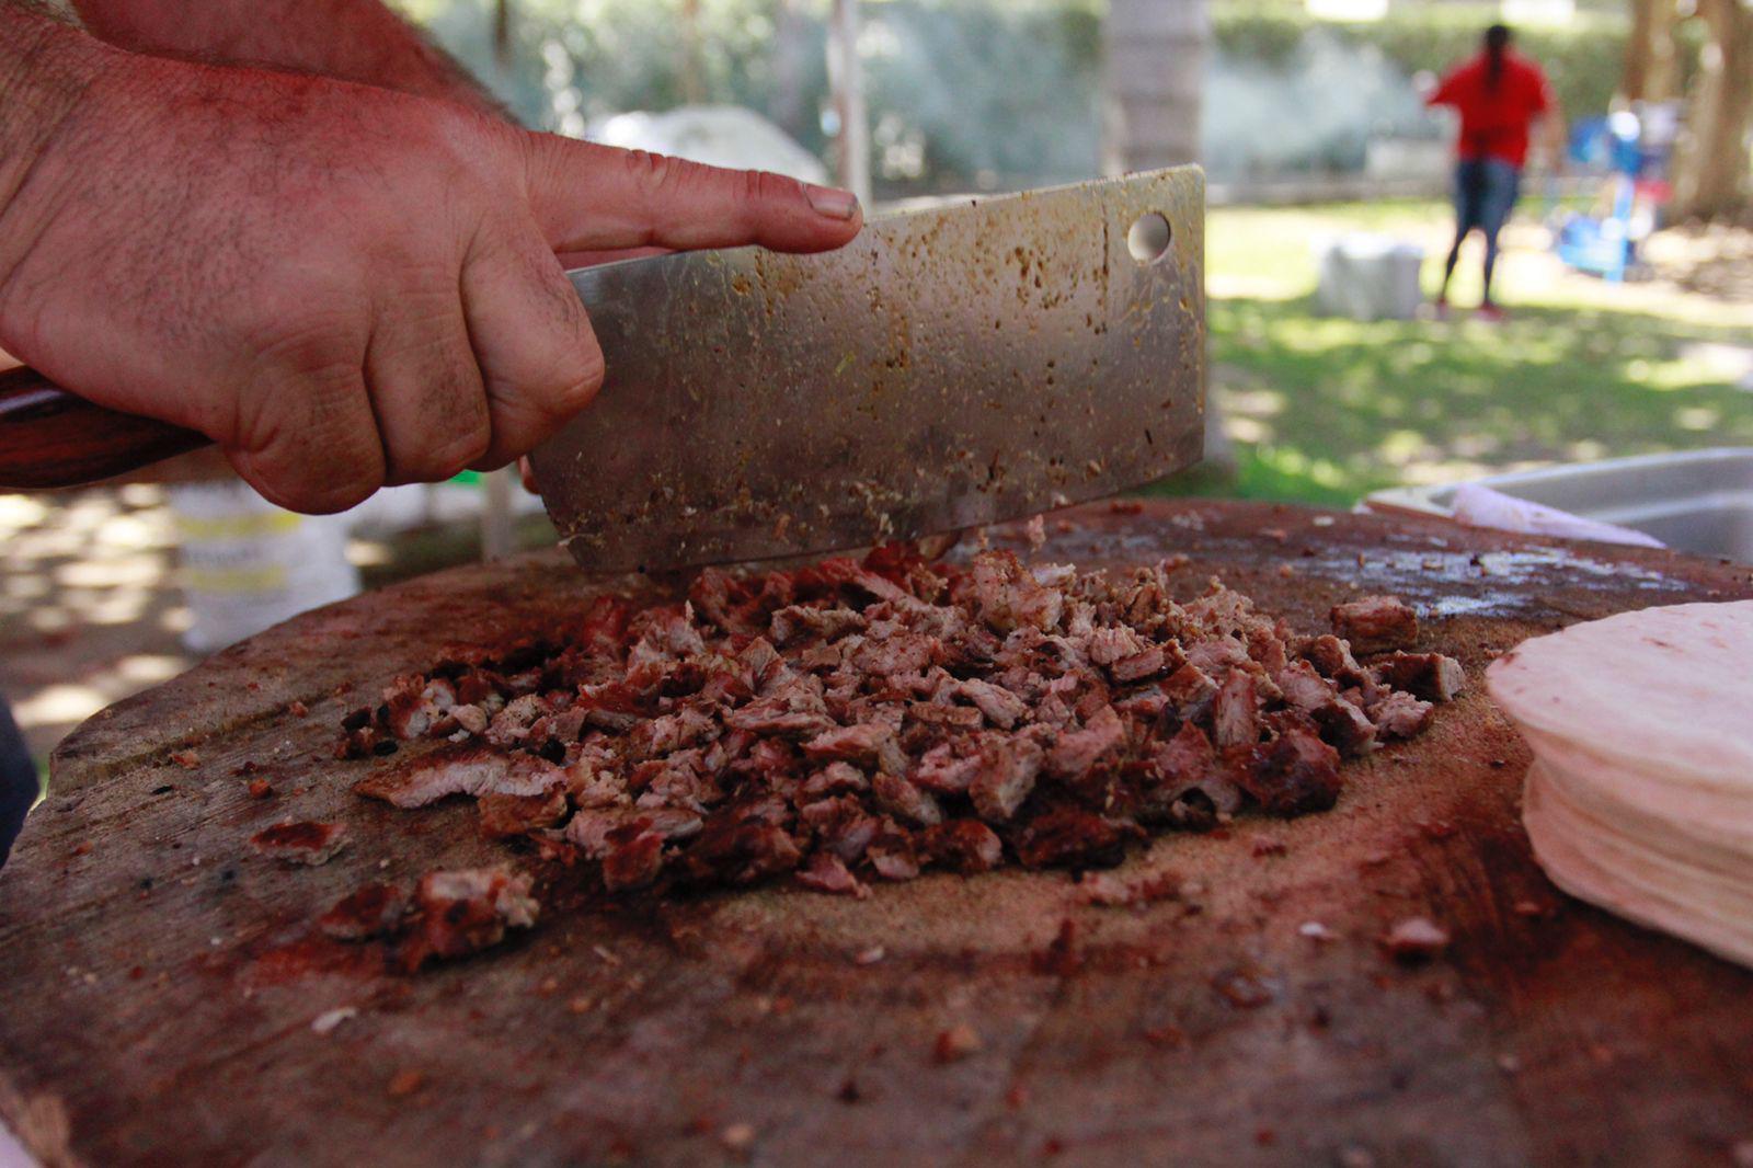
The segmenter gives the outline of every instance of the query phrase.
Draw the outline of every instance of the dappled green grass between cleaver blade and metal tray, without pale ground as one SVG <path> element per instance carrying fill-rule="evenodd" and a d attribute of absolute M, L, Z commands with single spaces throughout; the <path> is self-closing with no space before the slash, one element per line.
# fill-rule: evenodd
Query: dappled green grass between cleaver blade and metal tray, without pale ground
<path fill-rule="evenodd" d="M 1707 328 L 1555 309 L 1499 326 L 1322 319 L 1306 302 L 1224 300 L 1210 312 L 1217 393 L 1243 423 L 1236 437 L 1271 451 L 1260 456 L 1274 479 L 1324 491 L 1753 444 L 1753 396 L 1679 353 L 1683 340 L 1716 335 Z M 1239 403 L 1224 396 L 1225 367 L 1246 374 Z M 1252 409 L 1262 400 L 1274 409 Z"/>

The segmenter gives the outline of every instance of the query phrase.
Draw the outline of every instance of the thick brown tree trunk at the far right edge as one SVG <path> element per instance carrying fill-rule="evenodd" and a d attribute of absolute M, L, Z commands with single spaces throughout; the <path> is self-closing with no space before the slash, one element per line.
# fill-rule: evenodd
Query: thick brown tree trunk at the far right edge
<path fill-rule="evenodd" d="M 1748 128 L 1753 125 L 1753 7 L 1744 0 L 1697 0 L 1709 39 L 1686 116 L 1686 149 L 1674 181 L 1681 217 L 1711 219 L 1739 210 L 1748 189 Z"/>

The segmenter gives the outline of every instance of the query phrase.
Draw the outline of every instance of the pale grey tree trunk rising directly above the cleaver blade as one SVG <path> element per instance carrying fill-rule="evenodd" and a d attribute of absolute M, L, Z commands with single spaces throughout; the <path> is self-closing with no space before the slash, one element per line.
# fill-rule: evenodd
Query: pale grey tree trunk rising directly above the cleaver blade
<path fill-rule="evenodd" d="M 1103 23 L 1103 170 L 1199 160 L 1206 0 L 1111 0 Z"/>

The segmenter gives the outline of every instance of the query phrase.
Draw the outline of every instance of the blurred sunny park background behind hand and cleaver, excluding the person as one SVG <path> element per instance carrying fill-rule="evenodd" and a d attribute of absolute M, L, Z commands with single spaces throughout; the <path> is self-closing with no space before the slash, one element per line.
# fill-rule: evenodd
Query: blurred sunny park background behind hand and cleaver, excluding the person
<path fill-rule="evenodd" d="M 878 214 L 1201 161 L 1208 459 L 1153 491 L 1350 507 L 1399 489 L 1430 507 L 1444 484 L 1537 496 L 1516 475 L 1746 447 L 1660 465 L 1714 500 L 1720 554 L 1753 544 L 1746 0 L 400 7 L 531 126 L 847 182 Z M 1420 95 L 1497 19 L 1546 70 L 1564 146 L 1530 158 L 1504 233 L 1508 319 L 1469 312 L 1478 242 L 1437 319 L 1455 126 Z M 1685 545 L 1678 531 L 1657 533 Z M 210 458 L 0 495 L 0 693 L 46 758 L 268 623 L 549 538 L 503 475 L 324 519 L 259 503 Z"/>

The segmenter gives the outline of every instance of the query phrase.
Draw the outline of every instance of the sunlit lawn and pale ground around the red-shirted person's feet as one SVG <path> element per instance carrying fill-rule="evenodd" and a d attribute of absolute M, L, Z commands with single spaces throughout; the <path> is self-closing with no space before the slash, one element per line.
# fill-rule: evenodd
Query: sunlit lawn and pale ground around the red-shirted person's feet
<path fill-rule="evenodd" d="M 1308 298 L 1311 240 L 1336 230 L 1415 237 L 1437 253 L 1448 228 L 1436 203 L 1215 210 L 1211 363 L 1236 470 L 1159 489 L 1345 505 L 1387 486 L 1536 463 L 1753 445 L 1753 393 L 1688 349 L 1748 345 L 1753 309 L 1602 284 L 1523 240 L 1499 268 L 1504 324 L 1466 312 L 1446 323 L 1320 317 Z M 1458 305 L 1478 298 L 1476 263 L 1464 254 Z"/>

